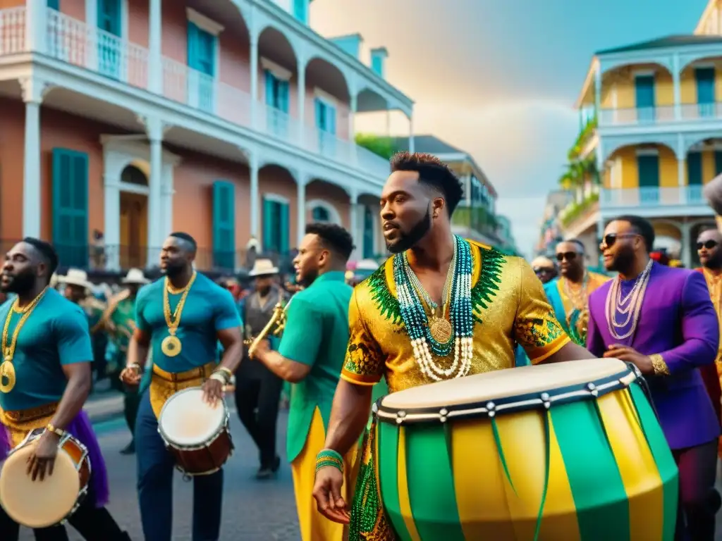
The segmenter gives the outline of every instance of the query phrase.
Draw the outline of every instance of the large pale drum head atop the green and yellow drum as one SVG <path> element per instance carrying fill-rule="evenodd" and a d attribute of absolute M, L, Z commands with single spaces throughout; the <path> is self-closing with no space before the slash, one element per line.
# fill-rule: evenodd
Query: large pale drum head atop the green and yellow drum
<path fill-rule="evenodd" d="M 381 407 L 409 412 L 414 408 L 473 404 L 593 383 L 628 371 L 627 365 L 617 359 L 520 366 L 393 392 L 381 400 Z"/>

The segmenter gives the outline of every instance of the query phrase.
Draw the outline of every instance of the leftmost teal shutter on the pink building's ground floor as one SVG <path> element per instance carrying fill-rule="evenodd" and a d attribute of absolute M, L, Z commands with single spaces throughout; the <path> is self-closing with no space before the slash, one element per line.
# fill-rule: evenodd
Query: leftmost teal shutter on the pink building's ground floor
<path fill-rule="evenodd" d="M 88 265 L 88 155 L 53 149 L 53 245 L 64 267 Z"/>

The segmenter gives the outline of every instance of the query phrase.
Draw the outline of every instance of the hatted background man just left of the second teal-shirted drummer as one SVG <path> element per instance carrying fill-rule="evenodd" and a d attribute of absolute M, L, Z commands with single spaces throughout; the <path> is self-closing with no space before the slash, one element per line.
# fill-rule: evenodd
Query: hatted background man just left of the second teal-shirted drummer
<path fill-rule="evenodd" d="M 135 332 L 136 295 L 141 286 L 149 283 L 149 280 L 139 268 L 131 268 L 122 282 L 126 289 L 108 301 L 108 309 L 105 310 L 103 320 L 101 320 L 101 325 L 108 330 L 110 340 L 115 346 L 113 365 L 118 367 L 116 377 L 120 376 L 122 369 L 126 366 L 128 344 Z M 123 413 L 125 413 L 131 436 L 134 436 L 140 391 L 138 386 L 123 384 L 123 387 Z M 135 440 L 131 439 L 130 443 L 121 449 L 121 454 L 134 454 L 134 452 Z"/>

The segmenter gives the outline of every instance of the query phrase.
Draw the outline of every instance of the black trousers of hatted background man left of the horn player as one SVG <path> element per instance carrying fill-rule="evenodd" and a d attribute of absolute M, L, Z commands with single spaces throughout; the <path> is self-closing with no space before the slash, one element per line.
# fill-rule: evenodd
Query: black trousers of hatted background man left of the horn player
<path fill-rule="evenodd" d="M 261 468 L 276 461 L 276 423 L 283 380 L 259 361 L 244 359 L 235 375 L 238 417 L 258 447 Z"/>

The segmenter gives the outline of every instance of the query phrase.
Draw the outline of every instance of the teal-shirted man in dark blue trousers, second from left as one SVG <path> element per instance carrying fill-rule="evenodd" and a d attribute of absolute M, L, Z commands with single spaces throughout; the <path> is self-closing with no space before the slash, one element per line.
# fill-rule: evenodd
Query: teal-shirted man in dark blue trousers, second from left
<path fill-rule="evenodd" d="M 211 405 L 223 397 L 243 348 L 240 318 L 229 291 L 193 270 L 196 241 L 172 233 L 160 251 L 164 278 L 145 286 L 136 298 L 136 330 L 121 379 L 138 385 L 142 366 L 152 351 L 152 379 L 136 418 L 138 498 L 144 537 L 173 537 L 173 471 L 175 460 L 158 434 L 158 416 L 176 392 L 202 385 Z M 224 354 L 218 366 L 216 346 Z M 223 470 L 193 478 L 193 539 L 218 540 L 223 496 Z"/>

